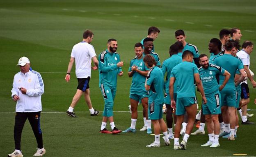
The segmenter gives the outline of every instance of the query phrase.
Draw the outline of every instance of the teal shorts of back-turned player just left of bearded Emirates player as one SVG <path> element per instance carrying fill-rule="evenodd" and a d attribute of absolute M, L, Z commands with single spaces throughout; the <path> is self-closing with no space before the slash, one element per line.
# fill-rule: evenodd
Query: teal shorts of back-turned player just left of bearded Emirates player
<path fill-rule="evenodd" d="M 196 97 L 180 97 L 176 101 L 176 115 L 185 115 L 185 107 L 197 104 Z"/>

